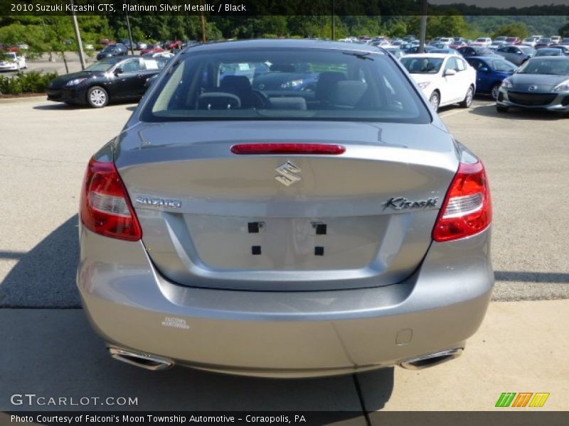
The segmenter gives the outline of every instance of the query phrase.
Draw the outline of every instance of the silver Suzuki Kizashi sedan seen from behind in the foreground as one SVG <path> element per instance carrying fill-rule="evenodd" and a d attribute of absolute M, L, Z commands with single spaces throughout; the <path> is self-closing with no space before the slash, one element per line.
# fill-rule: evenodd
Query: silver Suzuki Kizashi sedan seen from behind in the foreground
<path fill-rule="evenodd" d="M 482 162 L 385 50 L 195 45 L 90 160 L 78 288 L 144 368 L 424 368 L 484 318 L 490 232 Z"/>

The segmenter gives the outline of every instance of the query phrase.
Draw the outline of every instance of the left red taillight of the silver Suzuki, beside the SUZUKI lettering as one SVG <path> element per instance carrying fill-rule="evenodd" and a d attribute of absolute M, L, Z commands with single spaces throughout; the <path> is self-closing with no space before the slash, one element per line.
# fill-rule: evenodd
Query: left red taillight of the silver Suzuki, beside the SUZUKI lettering
<path fill-rule="evenodd" d="M 142 230 L 115 163 L 91 158 L 81 189 L 81 222 L 97 234 L 138 241 Z"/>

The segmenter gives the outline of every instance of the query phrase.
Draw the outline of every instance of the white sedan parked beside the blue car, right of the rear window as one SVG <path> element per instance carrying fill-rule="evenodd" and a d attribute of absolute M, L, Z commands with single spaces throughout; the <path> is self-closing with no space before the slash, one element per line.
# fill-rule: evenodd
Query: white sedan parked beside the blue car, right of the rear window
<path fill-rule="evenodd" d="M 476 70 L 459 55 L 422 53 L 400 59 L 435 111 L 460 104 L 468 108 L 476 92 Z"/>

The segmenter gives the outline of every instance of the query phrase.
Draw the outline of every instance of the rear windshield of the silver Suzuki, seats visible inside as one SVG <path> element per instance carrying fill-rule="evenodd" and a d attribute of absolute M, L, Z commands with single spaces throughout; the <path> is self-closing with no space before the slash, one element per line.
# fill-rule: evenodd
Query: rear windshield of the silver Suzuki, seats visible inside
<path fill-rule="evenodd" d="M 141 119 L 428 123 L 430 114 L 383 53 L 249 48 L 179 55 Z"/>

